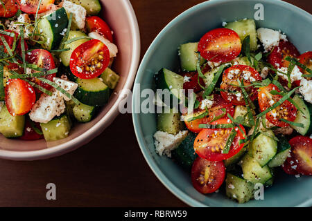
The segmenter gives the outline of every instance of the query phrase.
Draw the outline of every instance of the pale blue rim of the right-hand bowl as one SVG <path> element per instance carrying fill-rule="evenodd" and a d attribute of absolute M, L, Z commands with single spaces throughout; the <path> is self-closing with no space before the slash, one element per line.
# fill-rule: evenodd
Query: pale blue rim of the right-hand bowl
<path fill-rule="evenodd" d="M 175 25 L 175 23 L 178 23 L 182 19 L 184 19 L 185 15 L 192 14 L 192 13 L 196 12 L 202 6 L 216 6 L 218 4 L 223 4 L 223 3 L 227 3 L 227 2 L 233 2 L 233 1 L 235 1 L 235 0 L 209 0 L 209 1 L 202 2 L 202 3 L 198 3 L 196 6 L 192 6 L 191 8 L 185 10 L 184 12 L 180 13 L 180 15 L 177 15 L 177 17 L 172 19 L 161 30 L 161 32 L 159 32 L 157 37 L 155 37 L 155 39 L 153 40 L 152 44 L 150 44 L 150 46 L 148 47 L 148 50 L 146 50 L 146 53 L 145 53 L 143 59 L 141 60 L 141 64 L 139 66 L 139 69 L 137 70 L 137 76 L 135 78 L 135 86 L 133 88 L 133 91 L 137 91 L 137 84 L 139 84 L 139 82 L 140 82 L 139 79 L 141 79 L 144 75 L 144 70 L 146 70 L 146 66 L 147 66 L 146 61 L 150 59 L 151 52 L 153 50 L 155 50 L 155 48 L 159 44 L 159 41 L 161 41 L 161 39 L 164 37 L 165 33 L 171 27 L 173 27 Z M 279 6 L 284 6 L 285 8 L 288 8 L 288 10 L 300 12 L 300 13 L 302 13 L 302 15 L 309 17 L 311 19 L 311 14 L 309 14 L 309 12 L 306 12 L 302 8 L 298 8 L 297 6 L 294 6 L 293 4 L 285 2 L 285 1 L 281 1 L 281 0 L 277 0 L 277 1 L 272 1 L 272 0 L 243 0 L 243 1 L 254 1 L 257 3 L 273 3 L 273 4 L 276 4 Z M 164 184 L 164 186 L 166 186 L 168 191 L 171 191 L 171 193 L 173 193 L 173 195 L 175 195 L 177 198 L 182 200 L 182 202 L 188 204 L 189 206 L 206 207 L 207 204 L 204 204 L 202 202 L 199 202 L 198 200 L 195 200 L 190 195 L 184 193 L 179 188 L 177 188 L 177 186 L 175 186 L 175 184 L 173 184 L 173 182 L 171 182 L 168 179 L 168 177 L 166 177 L 166 175 L 164 175 L 164 173 L 159 169 L 159 166 L 157 166 L 155 160 L 150 155 L 148 149 L 145 148 L 145 146 L 144 146 L 145 142 L 143 139 L 144 135 L 143 135 L 141 128 L 139 128 L 139 125 L 140 125 L 139 114 L 135 113 L 135 99 L 132 99 L 132 121 L 133 121 L 133 126 L 135 128 L 135 135 L 137 137 L 137 142 L 139 144 L 141 152 L 143 153 L 144 158 L 145 158 L 146 162 L 148 163 L 148 166 L 150 166 L 150 169 L 153 171 L 153 173 L 158 178 L 158 180 L 160 182 L 162 182 L 162 184 Z M 297 204 L 296 206 L 297 207 L 312 206 L 312 198 L 309 200 L 306 200 L 305 202 Z"/>

